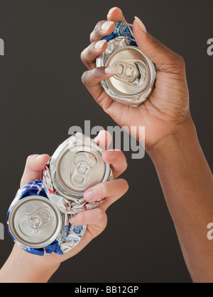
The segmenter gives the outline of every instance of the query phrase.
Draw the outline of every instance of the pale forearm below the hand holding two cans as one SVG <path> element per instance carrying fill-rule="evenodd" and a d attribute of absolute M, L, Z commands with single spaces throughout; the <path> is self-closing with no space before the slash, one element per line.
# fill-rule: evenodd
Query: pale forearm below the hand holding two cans
<path fill-rule="evenodd" d="M 0 283 L 46 283 L 59 266 L 55 262 L 43 261 L 43 257 L 28 254 L 15 245 L 0 270 Z"/>

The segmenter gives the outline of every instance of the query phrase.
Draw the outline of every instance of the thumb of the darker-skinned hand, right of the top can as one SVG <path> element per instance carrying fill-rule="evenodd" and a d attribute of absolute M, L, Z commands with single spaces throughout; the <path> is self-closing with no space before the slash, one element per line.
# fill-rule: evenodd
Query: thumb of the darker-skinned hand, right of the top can
<path fill-rule="evenodd" d="M 153 38 L 137 16 L 133 22 L 133 34 L 140 50 L 159 70 L 174 73 L 175 70 L 182 69 L 182 57 Z"/>

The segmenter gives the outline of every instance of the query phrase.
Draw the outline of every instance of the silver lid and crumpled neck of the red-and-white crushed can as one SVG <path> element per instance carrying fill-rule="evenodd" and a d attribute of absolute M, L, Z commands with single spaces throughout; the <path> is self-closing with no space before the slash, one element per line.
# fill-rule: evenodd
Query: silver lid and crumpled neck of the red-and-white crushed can
<path fill-rule="evenodd" d="M 61 196 L 80 199 L 91 186 L 107 181 L 110 167 L 102 152 L 91 138 L 80 133 L 65 140 L 50 159 L 54 189 Z"/>

